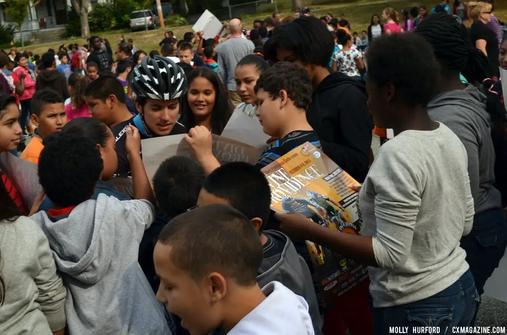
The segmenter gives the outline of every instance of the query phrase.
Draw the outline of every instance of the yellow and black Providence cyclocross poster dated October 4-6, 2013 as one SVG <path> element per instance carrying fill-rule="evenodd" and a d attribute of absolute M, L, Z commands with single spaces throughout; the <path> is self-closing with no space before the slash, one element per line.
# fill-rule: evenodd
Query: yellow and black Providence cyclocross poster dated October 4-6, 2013
<path fill-rule="evenodd" d="M 262 172 L 271 188 L 271 209 L 301 213 L 315 224 L 346 234 L 359 235 L 360 185 L 322 151 L 305 143 L 278 158 Z M 331 304 L 368 277 L 366 266 L 306 241 L 324 305 Z"/>

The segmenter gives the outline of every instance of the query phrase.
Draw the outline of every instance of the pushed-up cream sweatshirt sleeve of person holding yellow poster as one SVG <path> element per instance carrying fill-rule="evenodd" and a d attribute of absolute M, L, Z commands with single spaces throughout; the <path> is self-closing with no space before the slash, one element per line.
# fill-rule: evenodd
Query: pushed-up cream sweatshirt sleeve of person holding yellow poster
<path fill-rule="evenodd" d="M 380 268 L 395 269 L 403 266 L 410 255 L 423 181 L 414 171 L 410 155 L 402 151 L 391 151 L 376 159 L 380 160 L 375 163 L 377 169 L 370 172 L 376 193 L 373 253 Z"/>

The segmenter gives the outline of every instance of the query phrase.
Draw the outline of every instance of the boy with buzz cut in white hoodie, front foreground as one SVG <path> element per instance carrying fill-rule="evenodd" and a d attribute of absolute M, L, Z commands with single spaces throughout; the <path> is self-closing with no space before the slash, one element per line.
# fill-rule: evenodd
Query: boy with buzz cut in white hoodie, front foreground
<path fill-rule="evenodd" d="M 160 233 L 153 259 L 157 299 L 191 334 L 313 335 L 306 301 L 280 282 L 262 289 L 262 245 L 233 207 L 212 204 L 174 218 Z"/>

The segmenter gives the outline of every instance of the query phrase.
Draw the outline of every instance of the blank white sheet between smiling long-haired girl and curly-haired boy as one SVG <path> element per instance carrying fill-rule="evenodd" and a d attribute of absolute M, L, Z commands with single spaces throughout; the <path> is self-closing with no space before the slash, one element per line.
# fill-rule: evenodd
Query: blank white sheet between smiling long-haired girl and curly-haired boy
<path fill-rule="evenodd" d="M 270 136 L 264 134 L 258 119 L 253 119 L 236 109 L 227 122 L 222 137 L 242 142 L 258 149 L 266 148 Z"/>

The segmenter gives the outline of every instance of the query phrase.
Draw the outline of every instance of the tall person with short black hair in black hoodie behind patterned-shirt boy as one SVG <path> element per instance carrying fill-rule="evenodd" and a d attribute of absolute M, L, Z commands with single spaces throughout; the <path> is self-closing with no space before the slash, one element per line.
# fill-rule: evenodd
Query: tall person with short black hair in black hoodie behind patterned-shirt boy
<path fill-rule="evenodd" d="M 302 17 L 275 28 L 264 45 L 269 60 L 295 62 L 307 69 L 313 85 L 308 123 L 317 132 L 324 153 L 363 182 L 373 130 L 366 88 L 343 73 L 330 72 L 333 50 L 328 28 L 314 17 Z"/>

